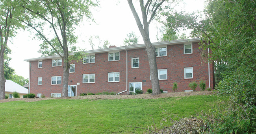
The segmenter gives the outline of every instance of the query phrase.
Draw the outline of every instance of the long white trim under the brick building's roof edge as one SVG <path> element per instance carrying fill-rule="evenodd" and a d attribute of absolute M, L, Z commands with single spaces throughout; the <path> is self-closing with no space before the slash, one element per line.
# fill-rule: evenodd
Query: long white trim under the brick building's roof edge
<path fill-rule="evenodd" d="M 193 42 L 199 42 L 202 40 L 201 38 L 195 38 L 195 39 L 183 39 L 183 40 L 172 40 L 172 41 L 165 41 L 165 42 L 155 42 L 152 43 L 153 46 L 161 46 L 161 45 L 174 45 L 174 44 L 187 44 L 187 43 L 193 43 Z M 120 51 L 120 50 L 133 50 L 133 49 L 139 49 L 139 48 L 146 48 L 145 44 L 138 44 L 138 45 L 132 45 L 132 46 L 120 46 L 116 48 L 106 48 L 106 49 L 100 49 L 100 50 L 89 50 L 84 51 L 85 53 L 91 54 L 91 53 L 106 53 L 109 51 Z M 74 53 L 69 53 L 69 55 L 74 55 Z M 30 61 L 38 61 L 38 60 L 45 60 L 45 59 L 53 59 L 58 58 L 59 55 L 53 55 L 53 56 L 46 56 L 46 57 L 38 57 L 38 58 L 32 58 L 32 59 L 25 59 L 24 61 L 30 62 Z"/>

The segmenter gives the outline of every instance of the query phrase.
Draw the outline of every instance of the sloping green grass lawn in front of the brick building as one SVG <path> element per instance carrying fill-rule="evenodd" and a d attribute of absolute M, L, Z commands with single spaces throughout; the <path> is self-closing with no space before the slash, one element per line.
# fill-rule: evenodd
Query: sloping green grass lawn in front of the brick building
<path fill-rule="evenodd" d="M 191 117 L 207 112 L 226 97 L 198 95 L 162 99 L 71 100 L 56 99 L 37 102 L 0 103 L 1 133 L 145 133 L 134 127 L 160 128 L 171 112 Z M 164 110 L 163 110 L 164 109 Z"/>

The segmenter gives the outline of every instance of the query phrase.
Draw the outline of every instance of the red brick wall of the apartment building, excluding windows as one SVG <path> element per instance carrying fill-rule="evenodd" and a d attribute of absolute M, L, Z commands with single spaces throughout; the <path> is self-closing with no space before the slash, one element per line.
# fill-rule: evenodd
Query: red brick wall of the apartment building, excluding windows
<path fill-rule="evenodd" d="M 190 90 L 188 84 L 196 81 L 199 84 L 200 80 L 206 81 L 208 87 L 208 63 L 200 61 L 200 50 L 198 42 L 193 43 L 193 54 L 184 55 L 184 45 L 168 45 L 167 56 L 157 57 L 158 69 L 167 69 L 167 80 L 160 80 L 160 88 L 173 92 L 173 83 L 178 83 L 178 92 Z M 143 49 L 134 49 L 128 51 L 128 83 L 142 82 L 144 92 L 151 88 L 150 71 L 148 57 Z M 139 57 L 139 68 L 131 68 L 131 59 Z M 38 61 L 31 63 L 30 75 L 30 93 L 45 94 L 50 97 L 51 93 L 62 93 L 61 85 L 51 85 L 51 76 L 62 76 L 63 67 L 52 67 L 52 59 L 43 60 L 43 68 L 38 68 Z M 95 63 L 83 64 L 82 61 L 74 62 L 76 64 L 75 73 L 69 73 L 69 84 L 77 85 L 77 95 L 80 93 L 98 93 L 103 91 L 121 92 L 126 90 L 126 51 L 120 51 L 119 61 L 108 61 L 108 53 L 96 53 Z M 184 68 L 193 67 L 193 79 L 184 79 Z M 109 83 L 108 73 L 119 72 L 119 82 Z M 82 82 L 83 74 L 95 73 L 95 83 L 84 84 Z M 210 87 L 213 87 L 213 66 L 210 64 Z M 42 85 L 37 86 L 37 77 L 42 77 Z M 134 79 L 136 77 L 136 79 Z M 62 79 L 63 80 L 63 79 Z M 71 82 L 72 81 L 72 82 Z M 200 90 L 199 86 L 196 90 Z M 128 89 L 129 91 L 129 89 Z M 124 92 L 123 94 L 128 94 Z"/>

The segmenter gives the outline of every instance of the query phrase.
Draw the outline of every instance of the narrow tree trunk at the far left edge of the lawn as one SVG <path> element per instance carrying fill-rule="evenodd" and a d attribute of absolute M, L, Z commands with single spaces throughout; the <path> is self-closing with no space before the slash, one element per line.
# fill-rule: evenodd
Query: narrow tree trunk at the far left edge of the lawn
<path fill-rule="evenodd" d="M 5 99 L 5 83 L 4 78 L 4 47 L 0 51 L 0 100 Z"/>

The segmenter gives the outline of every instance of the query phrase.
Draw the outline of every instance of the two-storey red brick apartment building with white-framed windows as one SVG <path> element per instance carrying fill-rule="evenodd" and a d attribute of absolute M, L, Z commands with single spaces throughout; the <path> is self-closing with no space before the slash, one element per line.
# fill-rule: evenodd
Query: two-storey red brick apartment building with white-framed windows
<path fill-rule="evenodd" d="M 213 88 L 213 64 L 201 62 L 200 39 L 173 40 L 152 43 L 156 47 L 160 88 L 173 92 L 191 90 L 188 84 L 204 80 Z M 145 44 L 111 46 L 86 51 L 80 62 L 70 63 L 69 96 L 80 93 L 117 92 L 130 94 L 135 89 L 144 93 L 151 88 L 150 70 Z M 70 54 L 72 55 L 72 54 Z M 45 97 L 60 97 L 62 93 L 63 61 L 58 55 L 26 59 L 30 62 L 29 92 Z M 196 90 L 200 90 L 197 87 Z"/>

